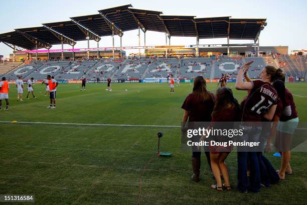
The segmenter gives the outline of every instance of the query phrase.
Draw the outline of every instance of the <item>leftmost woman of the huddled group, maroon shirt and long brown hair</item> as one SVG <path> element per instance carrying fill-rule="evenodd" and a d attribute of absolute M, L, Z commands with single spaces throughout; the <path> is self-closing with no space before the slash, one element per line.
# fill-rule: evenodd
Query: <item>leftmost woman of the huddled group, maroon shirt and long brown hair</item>
<path fill-rule="evenodd" d="M 185 110 L 182 119 L 182 125 L 185 127 L 187 121 L 189 122 L 210 122 L 211 114 L 214 107 L 215 96 L 207 90 L 206 80 L 203 76 L 197 76 L 194 79 L 193 92 L 189 94 L 182 105 Z M 191 123 L 190 123 L 191 125 Z M 198 141 L 198 140 L 197 140 Z M 199 181 L 200 166 L 201 166 L 201 151 L 197 148 L 192 148 L 192 179 L 196 182 Z M 205 152 L 209 166 L 210 154 Z"/>

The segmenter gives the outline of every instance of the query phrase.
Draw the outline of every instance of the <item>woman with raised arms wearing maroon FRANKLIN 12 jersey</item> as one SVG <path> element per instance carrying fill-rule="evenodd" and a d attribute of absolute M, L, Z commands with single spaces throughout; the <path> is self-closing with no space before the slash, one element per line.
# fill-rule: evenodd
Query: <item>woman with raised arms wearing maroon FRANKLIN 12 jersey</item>
<path fill-rule="evenodd" d="M 273 119 L 277 106 L 277 92 L 271 85 L 278 77 L 283 75 L 280 68 L 265 66 L 260 73 L 261 80 L 243 82 L 243 74 L 253 61 L 243 64 L 239 69 L 236 89 L 249 90 L 248 96 L 244 99 L 241 107 L 241 121 L 244 124 L 244 138 L 260 142 L 261 124 L 265 118 L 268 121 Z M 267 111 L 267 112 L 266 112 Z M 246 122 L 249 122 L 248 124 Z M 258 122 L 258 123 L 257 123 Z M 250 164 L 250 179 L 247 178 L 247 160 Z M 261 187 L 260 167 L 257 152 L 254 150 L 243 150 L 238 152 L 238 189 L 242 192 L 259 192 Z"/>

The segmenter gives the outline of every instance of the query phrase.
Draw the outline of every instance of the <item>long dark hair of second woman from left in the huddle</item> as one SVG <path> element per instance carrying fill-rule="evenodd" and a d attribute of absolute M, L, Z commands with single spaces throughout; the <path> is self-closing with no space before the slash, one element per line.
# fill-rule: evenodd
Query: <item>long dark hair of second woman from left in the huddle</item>
<path fill-rule="evenodd" d="M 236 98 L 234 98 L 232 90 L 228 87 L 221 87 L 216 91 L 216 100 L 212 112 L 212 117 L 217 116 L 228 109 L 229 105 L 234 107 L 236 111 L 240 111 L 240 104 Z"/>

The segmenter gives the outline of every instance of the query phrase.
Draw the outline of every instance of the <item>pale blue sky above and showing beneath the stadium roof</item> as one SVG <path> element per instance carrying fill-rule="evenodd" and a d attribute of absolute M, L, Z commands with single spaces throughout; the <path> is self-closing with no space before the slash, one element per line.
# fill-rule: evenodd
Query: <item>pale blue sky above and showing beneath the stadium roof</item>
<path fill-rule="evenodd" d="M 266 18 L 267 26 L 261 32 L 262 46 L 289 46 L 290 50 L 307 49 L 307 1 L 45 1 L 45 0 L 11 0 L 2 1 L 0 6 L 0 33 L 18 28 L 40 26 L 42 23 L 67 21 L 69 17 L 97 14 L 97 10 L 132 4 L 135 8 L 158 10 L 171 15 L 194 15 L 197 17 L 231 16 L 233 18 Z M 137 30 L 125 32 L 122 37 L 123 46 L 138 45 Z M 141 45 L 143 45 L 141 32 Z M 251 43 L 252 41 L 231 40 L 230 43 Z M 195 44 L 196 39 L 190 37 L 172 37 L 171 45 Z M 200 44 L 227 43 L 226 39 L 201 39 Z M 165 45 L 165 34 L 146 32 L 146 45 Z M 90 47 L 96 47 L 90 41 Z M 99 47 L 112 46 L 111 37 L 103 37 Z M 115 46 L 119 46 L 119 37 L 115 37 Z M 58 49 L 61 45 L 54 45 Z M 87 42 L 78 42 L 75 48 L 86 48 Z M 64 45 L 64 48 L 71 46 Z M 127 53 L 137 52 L 126 50 Z M 0 43 L 0 55 L 9 56 L 12 49 Z"/>

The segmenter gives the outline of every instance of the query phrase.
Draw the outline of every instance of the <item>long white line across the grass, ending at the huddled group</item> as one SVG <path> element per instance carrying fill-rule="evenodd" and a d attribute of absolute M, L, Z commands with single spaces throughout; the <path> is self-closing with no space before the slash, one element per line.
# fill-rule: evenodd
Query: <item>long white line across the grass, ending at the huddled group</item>
<path fill-rule="evenodd" d="M 0 121 L 0 123 L 23 123 L 23 124 L 45 124 L 45 125 L 89 125 L 89 126 L 118 126 L 118 127 L 158 127 L 158 128 L 180 128 L 176 125 L 114 125 L 114 124 L 89 124 L 89 123 L 47 123 L 47 122 L 12 122 Z"/>

